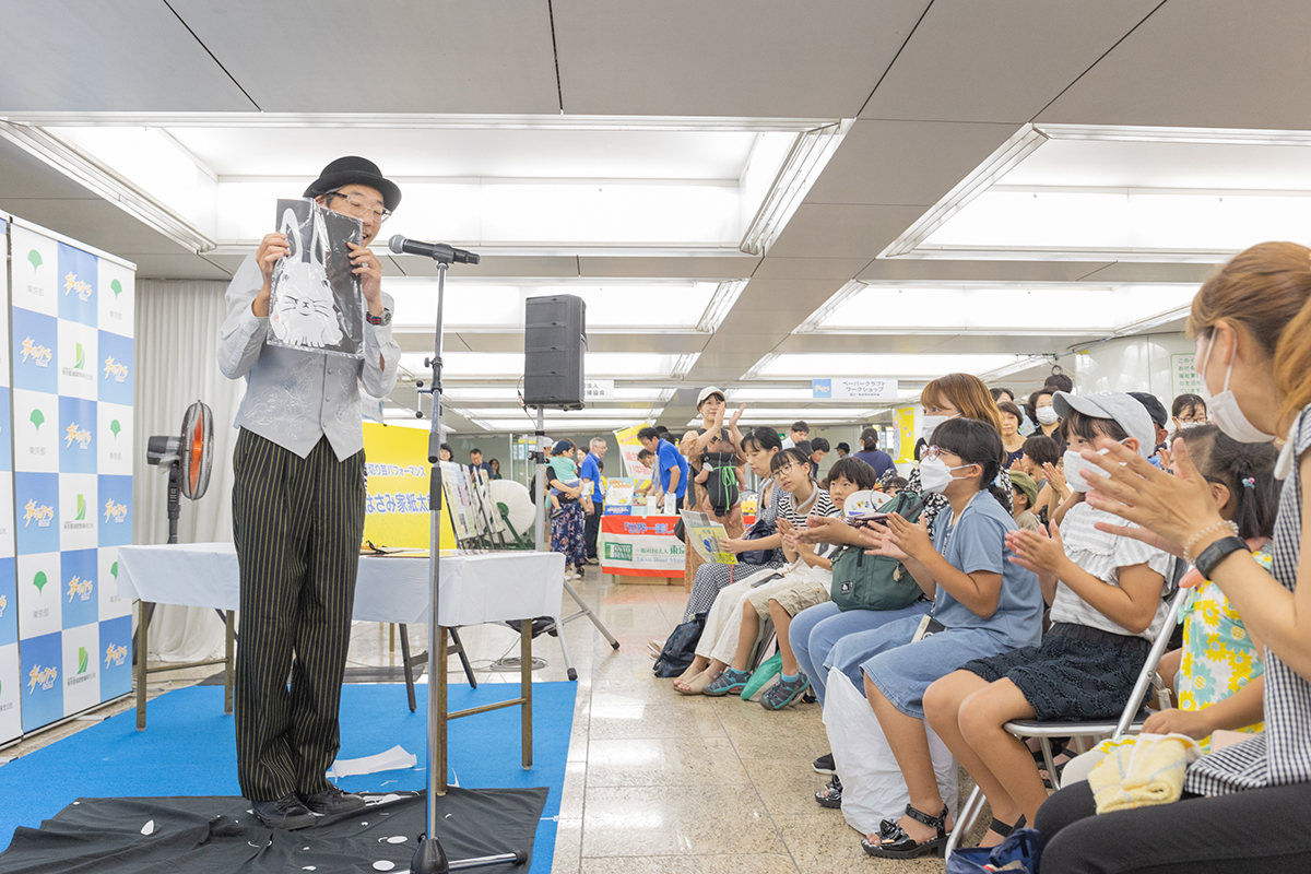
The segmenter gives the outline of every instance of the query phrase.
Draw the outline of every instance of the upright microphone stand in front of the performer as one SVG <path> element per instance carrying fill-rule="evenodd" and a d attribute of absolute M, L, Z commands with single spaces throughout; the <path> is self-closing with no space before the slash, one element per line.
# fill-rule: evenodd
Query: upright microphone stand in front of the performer
<path fill-rule="evenodd" d="M 429 586 L 433 612 L 427 622 L 427 832 L 420 835 L 418 849 L 410 860 L 413 874 L 448 874 L 473 867 L 489 867 L 492 865 L 522 865 L 528 861 L 524 850 L 501 853 L 498 856 L 481 856 L 479 858 L 465 858 L 451 861 L 442 849 L 442 841 L 437 837 L 437 798 L 446 794 L 446 683 L 438 681 L 438 675 L 446 674 L 446 629 L 438 620 L 438 604 L 440 603 L 440 561 L 442 561 L 442 308 L 446 301 L 446 269 L 451 266 L 455 250 L 439 249 L 433 253 L 437 261 L 437 332 L 433 358 L 425 359 L 423 366 L 433 371 L 433 381 L 427 389 L 433 394 L 433 427 L 427 438 L 427 460 L 433 465 L 429 476 L 427 506 L 431 516 L 431 541 L 427 550 Z M 476 263 L 476 262 L 475 262 Z M 434 777 L 437 768 L 443 773 Z"/>

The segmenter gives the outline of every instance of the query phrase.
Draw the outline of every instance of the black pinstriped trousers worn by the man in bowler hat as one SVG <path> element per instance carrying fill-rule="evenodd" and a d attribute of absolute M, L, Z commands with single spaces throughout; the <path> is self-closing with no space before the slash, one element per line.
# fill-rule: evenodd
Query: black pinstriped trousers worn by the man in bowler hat
<path fill-rule="evenodd" d="M 245 428 L 232 456 L 241 570 L 237 778 L 250 801 L 328 789 L 364 532 L 364 453 L 302 459 Z M 291 676 L 290 689 L 287 676 Z"/>

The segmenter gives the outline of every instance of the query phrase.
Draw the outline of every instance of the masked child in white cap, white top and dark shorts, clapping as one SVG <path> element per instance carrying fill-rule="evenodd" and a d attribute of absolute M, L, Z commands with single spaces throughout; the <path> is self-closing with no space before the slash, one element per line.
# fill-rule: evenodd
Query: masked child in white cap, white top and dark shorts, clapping
<path fill-rule="evenodd" d="M 1028 747 L 1003 727 L 1013 719 L 1108 719 L 1133 691 L 1167 604 L 1162 591 L 1172 558 L 1147 544 L 1099 531 L 1116 520 L 1083 502 L 1096 466 L 1084 449 L 1124 443 L 1143 457 L 1155 431 L 1146 408 L 1120 392 L 1075 397 L 1057 392 L 1054 408 L 1070 448 L 1065 473 L 1076 498 L 1050 536 L 1007 536 L 1017 563 L 1038 574 L 1051 604 L 1051 629 L 1041 646 L 966 663 L 924 697 L 929 725 L 956 753 L 992 806 L 1000 843 L 1023 820 L 1033 822 L 1047 791 Z M 1013 823 L 1013 826 L 1012 826 Z"/>

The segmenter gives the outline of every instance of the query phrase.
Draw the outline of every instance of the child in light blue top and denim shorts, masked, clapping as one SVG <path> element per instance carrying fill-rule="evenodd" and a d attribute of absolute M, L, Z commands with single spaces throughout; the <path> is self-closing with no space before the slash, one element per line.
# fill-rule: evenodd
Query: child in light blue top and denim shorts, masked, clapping
<path fill-rule="evenodd" d="M 1008 561 L 1007 533 L 1015 522 L 991 485 L 1004 457 L 1000 435 L 986 422 L 961 418 L 939 426 L 933 444 L 920 481 L 948 506 L 932 536 L 927 525 L 898 515 L 890 515 L 886 527 L 867 529 L 876 554 L 902 561 L 933 599 L 932 616 L 899 618 L 839 643 L 864 638 L 859 676 L 865 698 L 906 780 L 906 815 L 884 820 L 880 832 L 861 843 L 868 854 L 889 858 L 940 850 L 949 831 L 929 757 L 924 692 L 970 659 L 1033 645 L 1041 634 L 1038 580 Z"/>

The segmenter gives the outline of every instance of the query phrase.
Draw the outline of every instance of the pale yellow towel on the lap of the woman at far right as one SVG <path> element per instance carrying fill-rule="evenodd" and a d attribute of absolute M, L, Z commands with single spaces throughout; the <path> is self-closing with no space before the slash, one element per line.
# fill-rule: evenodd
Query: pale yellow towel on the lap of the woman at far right
<path fill-rule="evenodd" d="M 1088 772 L 1097 812 L 1179 801 L 1184 772 L 1201 755 L 1197 742 L 1181 734 L 1145 734 L 1116 747 Z"/>

